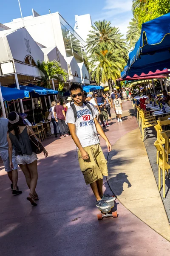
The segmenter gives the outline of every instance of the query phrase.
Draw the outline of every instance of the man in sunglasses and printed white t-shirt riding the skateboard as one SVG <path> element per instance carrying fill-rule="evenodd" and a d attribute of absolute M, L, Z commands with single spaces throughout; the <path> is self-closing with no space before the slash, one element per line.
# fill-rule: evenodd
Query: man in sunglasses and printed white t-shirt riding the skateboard
<path fill-rule="evenodd" d="M 103 176 L 108 176 L 108 167 L 97 132 L 106 141 L 108 152 L 111 151 L 111 143 L 96 119 L 94 107 L 83 103 L 82 86 L 73 84 L 70 87 L 70 92 L 74 104 L 68 109 L 65 122 L 68 124 L 71 137 L 78 148 L 79 166 L 85 183 L 90 184 L 94 192 L 96 207 L 108 209 L 108 202 L 114 201 L 116 198 L 103 195 Z"/>

